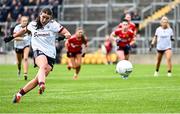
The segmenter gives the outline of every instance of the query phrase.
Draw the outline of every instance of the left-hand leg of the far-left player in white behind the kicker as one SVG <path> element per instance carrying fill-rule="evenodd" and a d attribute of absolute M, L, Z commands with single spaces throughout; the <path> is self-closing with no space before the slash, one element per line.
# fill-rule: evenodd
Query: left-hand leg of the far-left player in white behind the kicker
<path fill-rule="evenodd" d="M 18 49 L 16 49 L 16 64 L 17 64 L 17 67 L 18 67 L 18 76 L 21 75 L 21 62 L 22 62 L 22 53 L 20 53 L 18 51 Z"/>

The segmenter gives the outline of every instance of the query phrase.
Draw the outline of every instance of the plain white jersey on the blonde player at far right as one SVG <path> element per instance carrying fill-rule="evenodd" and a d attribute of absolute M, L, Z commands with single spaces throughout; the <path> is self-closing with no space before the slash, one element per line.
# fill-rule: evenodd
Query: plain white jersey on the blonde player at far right
<path fill-rule="evenodd" d="M 171 28 L 163 29 L 158 27 L 155 36 L 157 36 L 157 50 L 167 50 L 172 47 L 171 37 L 173 36 L 173 30 Z"/>

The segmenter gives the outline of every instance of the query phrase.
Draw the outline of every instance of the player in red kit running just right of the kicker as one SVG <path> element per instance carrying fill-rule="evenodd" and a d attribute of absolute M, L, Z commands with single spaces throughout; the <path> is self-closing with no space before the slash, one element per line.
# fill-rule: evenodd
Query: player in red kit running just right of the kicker
<path fill-rule="evenodd" d="M 65 46 L 67 57 L 69 58 L 67 68 L 75 70 L 73 79 L 76 80 L 81 69 L 82 57 L 85 55 L 85 52 L 82 52 L 82 50 L 87 48 L 87 38 L 84 35 L 83 29 L 77 28 L 76 33 L 65 42 Z"/>

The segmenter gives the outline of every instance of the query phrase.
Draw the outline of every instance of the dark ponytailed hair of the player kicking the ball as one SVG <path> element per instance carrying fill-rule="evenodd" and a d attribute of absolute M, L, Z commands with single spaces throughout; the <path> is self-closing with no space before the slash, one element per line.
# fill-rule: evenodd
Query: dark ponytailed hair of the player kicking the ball
<path fill-rule="evenodd" d="M 41 13 L 45 13 L 45 14 L 47 14 L 47 15 L 50 15 L 51 17 L 53 16 L 53 12 L 52 12 L 52 10 L 51 10 L 50 8 L 44 8 L 44 9 L 42 9 L 41 12 L 40 12 L 40 15 L 41 15 Z M 37 17 L 36 23 L 37 23 L 36 29 L 41 29 L 41 28 L 43 28 L 43 25 L 42 25 L 42 23 L 41 23 L 41 21 L 40 21 L 40 16 Z"/>

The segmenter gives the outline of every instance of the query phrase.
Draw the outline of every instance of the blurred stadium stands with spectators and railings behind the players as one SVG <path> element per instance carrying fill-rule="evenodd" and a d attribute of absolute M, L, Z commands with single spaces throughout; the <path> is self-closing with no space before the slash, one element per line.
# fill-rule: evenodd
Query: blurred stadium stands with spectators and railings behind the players
<path fill-rule="evenodd" d="M 1 0 L 0 5 L 1 64 L 15 63 L 13 42 L 4 44 L 3 36 L 11 33 L 18 17 L 27 15 L 34 20 L 44 7 L 51 7 L 54 18 L 71 33 L 79 26 L 85 29 L 89 39 L 88 54 L 84 59 L 86 64 L 104 63 L 105 57 L 98 51 L 99 46 L 127 12 L 131 13 L 132 21 L 138 28 L 136 47 L 132 49 L 130 59 L 133 63 L 153 64 L 155 49 L 148 51 L 149 41 L 159 26 L 159 19 L 166 15 L 175 35 L 173 63 L 180 64 L 180 0 Z M 61 49 L 63 42 L 57 41 L 57 46 Z M 60 62 L 65 64 L 67 58 L 64 49 L 60 55 Z M 116 61 L 115 54 L 112 54 L 112 59 Z"/>

